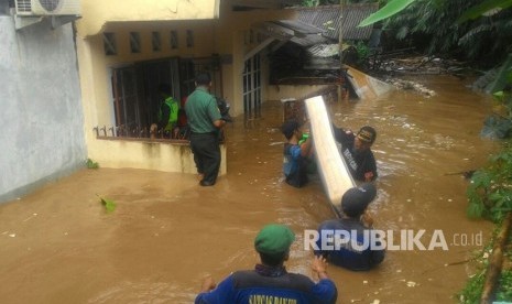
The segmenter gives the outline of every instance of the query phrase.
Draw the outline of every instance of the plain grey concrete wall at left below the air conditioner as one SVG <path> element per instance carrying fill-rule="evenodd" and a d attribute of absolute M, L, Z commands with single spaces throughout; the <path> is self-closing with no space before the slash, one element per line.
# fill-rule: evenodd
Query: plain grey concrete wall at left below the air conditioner
<path fill-rule="evenodd" d="M 7 2 L 7 1 L 1 1 Z M 0 202 L 85 165 L 84 115 L 70 23 L 17 31 L 0 15 Z"/>

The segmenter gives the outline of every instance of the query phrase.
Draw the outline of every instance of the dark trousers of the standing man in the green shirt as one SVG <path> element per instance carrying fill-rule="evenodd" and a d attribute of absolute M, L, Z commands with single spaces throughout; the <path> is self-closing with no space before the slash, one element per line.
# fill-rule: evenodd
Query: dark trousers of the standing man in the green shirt
<path fill-rule="evenodd" d="M 203 181 L 214 183 L 220 169 L 220 146 L 217 132 L 192 133 L 190 149 L 197 172 L 204 174 Z"/>

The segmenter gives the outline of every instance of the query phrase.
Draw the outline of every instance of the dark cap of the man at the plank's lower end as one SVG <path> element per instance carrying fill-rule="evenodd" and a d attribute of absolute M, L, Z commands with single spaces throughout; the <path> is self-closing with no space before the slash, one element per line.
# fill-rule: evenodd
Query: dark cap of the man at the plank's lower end
<path fill-rule="evenodd" d="M 341 209 L 349 217 L 358 217 L 364 213 L 375 196 L 377 188 L 372 183 L 349 188 L 341 197 Z"/>

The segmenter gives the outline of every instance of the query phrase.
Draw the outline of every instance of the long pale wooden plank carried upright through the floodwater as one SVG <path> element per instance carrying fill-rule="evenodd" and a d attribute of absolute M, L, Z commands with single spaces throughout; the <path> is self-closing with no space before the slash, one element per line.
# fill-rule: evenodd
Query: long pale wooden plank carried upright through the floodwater
<path fill-rule="evenodd" d="M 344 193 L 356 186 L 347 164 L 339 154 L 324 98 L 316 96 L 304 101 L 311 123 L 318 172 L 333 206 L 340 205 Z M 338 214 L 337 214 L 338 215 Z"/>

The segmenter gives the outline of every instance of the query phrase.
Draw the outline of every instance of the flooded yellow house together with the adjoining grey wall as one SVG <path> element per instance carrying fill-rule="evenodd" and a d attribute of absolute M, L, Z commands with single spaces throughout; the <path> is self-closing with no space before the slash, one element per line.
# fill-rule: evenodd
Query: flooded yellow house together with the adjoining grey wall
<path fill-rule="evenodd" d="M 268 24 L 295 22 L 301 9 L 287 7 L 299 2 L 0 0 L 7 42 L 0 46 L 7 84 L 0 202 L 68 175 L 87 159 L 102 167 L 195 173 L 186 141 L 149 138 L 161 83 L 183 100 L 196 73 L 208 72 L 211 93 L 230 104 L 232 116 L 322 89 L 270 85 L 271 54 L 303 39 L 304 30 L 280 33 Z M 318 24 L 303 28 L 319 33 Z M 225 144 L 221 152 L 225 174 Z"/>

